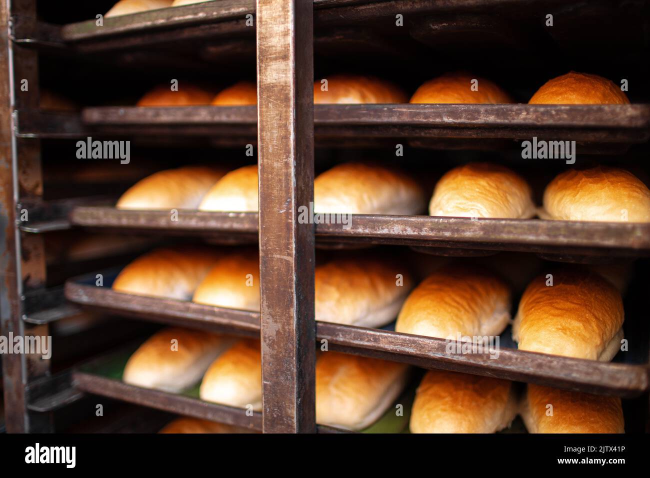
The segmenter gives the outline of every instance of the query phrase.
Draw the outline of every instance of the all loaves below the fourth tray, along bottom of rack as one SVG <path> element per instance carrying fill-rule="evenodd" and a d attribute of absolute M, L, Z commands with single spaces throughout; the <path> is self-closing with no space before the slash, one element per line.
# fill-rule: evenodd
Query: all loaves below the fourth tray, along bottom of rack
<path fill-rule="evenodd" d="M 234 341 L 233 341 L 234 340 Z M 405 413 L 399 398 L 409 382 L 408 365 L 376 358 L 318 353 L 316 421 L 362 431 L 391 410 Z M 201 378 L 202 377 L 202 378 Z M 200 398 L 220 405 L 260 411 L 261 352 L 257 339 L 233 339 L 210 332 L 165 328 L 129 358 L 123 372 L 128 384 L 183 392 L 201 381 Z M 549 414 L 549 410 L 551 413 Z M 407 410 L 408 412 L 408 410 Z M 521 414 L 534 433 L 624 432 L 621 400 L 568 392 L 498 378 L 432 370 L 422 378 L 411 408 L 413 433 L 493 433 Z M 168 432 L 197 432 L 175 425 Z M 204 432 L 233 432 L 205 427 Z"/>

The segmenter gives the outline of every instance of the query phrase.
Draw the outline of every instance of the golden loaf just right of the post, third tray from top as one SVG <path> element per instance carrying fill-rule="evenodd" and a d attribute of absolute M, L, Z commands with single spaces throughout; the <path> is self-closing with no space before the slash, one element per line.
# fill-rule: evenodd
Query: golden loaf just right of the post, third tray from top
<path fill-rule="evenodd" d="M 344 163 L 314 181 L 317 213 L 417 214 L 424 193 L 413 179 L 382 166 Z"/>

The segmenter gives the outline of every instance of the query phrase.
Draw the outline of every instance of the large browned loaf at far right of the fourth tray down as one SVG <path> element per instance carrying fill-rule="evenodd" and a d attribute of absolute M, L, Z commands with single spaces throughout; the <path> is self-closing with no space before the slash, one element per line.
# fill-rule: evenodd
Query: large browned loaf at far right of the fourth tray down
<path fill-rule="evenodd" d="M 623 339 L 623 300 L 608 280 L 582 269 L 542 274 L 526 288 L 512 328 L 519 350 L 608 362 Z M 550 282 L 549 282 L 550 284 Z"/>

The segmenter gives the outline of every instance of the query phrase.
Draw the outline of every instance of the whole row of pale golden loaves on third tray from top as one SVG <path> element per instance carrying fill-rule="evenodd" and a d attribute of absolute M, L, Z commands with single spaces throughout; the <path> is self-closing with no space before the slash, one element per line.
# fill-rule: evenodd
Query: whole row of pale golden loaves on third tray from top
<path fill-rule="evenodd" d="M 226 172 L 183 166 L 157 172 L 128 189 L 118 209 L 256 212 L 256 165 Z M 425 195 L 413 178 L 370 163 L 343 163 L 314 181 L 315 213 L 417 215 Z M 307 206 L 307 205 L 305 205 Z M 650 189 L 621 168 L 562 172 L 547 185 L 543 207 L 519 174 L 494 163 L 453 168 L 435 185 L 429 214 L 447 217 L 650 222 Z"/>

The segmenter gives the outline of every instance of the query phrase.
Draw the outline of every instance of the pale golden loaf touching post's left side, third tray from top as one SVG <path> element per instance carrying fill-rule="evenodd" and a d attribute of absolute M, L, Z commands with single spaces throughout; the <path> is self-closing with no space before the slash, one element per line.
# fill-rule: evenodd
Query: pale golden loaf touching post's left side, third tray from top
<path fill-rule="evenodd" d="M 257 165 L 235 169 L 205 194 L 200 211 L 257 212 Z"/>

